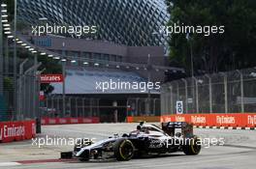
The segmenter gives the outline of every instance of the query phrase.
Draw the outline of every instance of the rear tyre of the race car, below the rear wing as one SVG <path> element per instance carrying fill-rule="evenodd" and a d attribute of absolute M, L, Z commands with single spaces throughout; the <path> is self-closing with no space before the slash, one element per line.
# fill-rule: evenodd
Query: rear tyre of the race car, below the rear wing
<path fill-rule="evenodd" d="M 198 155 L 201 152 L 201 140 L 197 136 L 187 138 L 182 146 L 185 155 Z"/>

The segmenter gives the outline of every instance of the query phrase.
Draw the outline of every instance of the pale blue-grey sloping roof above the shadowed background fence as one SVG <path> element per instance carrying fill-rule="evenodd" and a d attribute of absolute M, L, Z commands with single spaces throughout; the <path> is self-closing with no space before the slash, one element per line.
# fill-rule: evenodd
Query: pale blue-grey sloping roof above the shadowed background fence
<path fill-rule="evenodd" d="M 146 81 L 131 71 L 66 70 L 65 86 L 67 95 L 147 94 L 148 89 L 144 85 Z M 114 83 L 112 87 L 111 83 Z M 140 89 L 134 88 L 132 86 L 134 83 L 141 85 L 141 88 L 139 86 Z M 62 94 L 62 83 L 51 83 L 51 85 L 54 87 L 52 94 Z M 150 93 L 159 94 L 159 91 L 150 90 Z"/>

